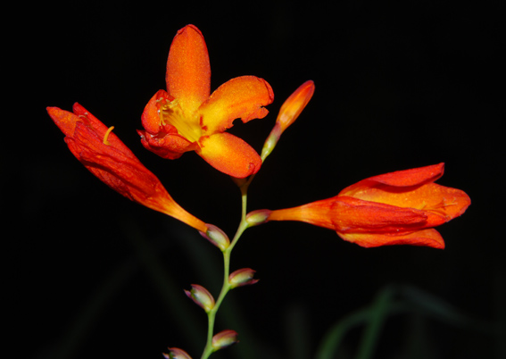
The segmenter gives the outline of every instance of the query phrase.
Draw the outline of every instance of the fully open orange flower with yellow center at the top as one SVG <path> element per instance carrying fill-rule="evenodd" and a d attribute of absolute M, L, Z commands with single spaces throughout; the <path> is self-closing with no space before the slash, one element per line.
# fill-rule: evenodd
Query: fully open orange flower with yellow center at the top
<path fill-rule="evenodd" d="M 143 146 L 163 158 L 195 151 L 207 163 L 236 178 L 260 170 L 261 158 L 241 138 L 225 132 L 243 122 L 265 117 L 274 99 L 272 88 L 254 76 L 230 79 L 210 96 L 211 67 L 203 35 L 194 25 L 180 29 L 172 41 L 165 76 L 145 106 L 138 130 Z"/>

